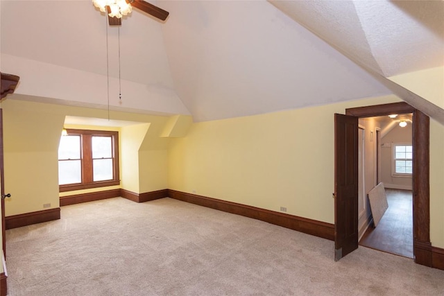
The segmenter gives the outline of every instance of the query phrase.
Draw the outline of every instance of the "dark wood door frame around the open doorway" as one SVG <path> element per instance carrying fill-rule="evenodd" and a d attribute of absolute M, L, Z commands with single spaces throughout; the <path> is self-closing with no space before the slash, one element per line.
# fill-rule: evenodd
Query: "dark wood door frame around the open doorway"
<path fill-rule="evenodd" d="M 429 223 L 429 116 L 404 102 L 356 107 L 345 110 L 345 114 L 350 118 L 356 118 L 356 121 L 358 118 L 406 113 L 413 114 L 413 257 L 416 263 L 432 266 L 432 245 L 430 243 Z M 355 134 L 357 134 L 357 130 Z M 355 138 L 357 141 L 357 137 Z M 336 138 L 335 141 L 340 141 L 340 139 Z M 336 163 L 338 164 L 341 164 L 341 161 L 343 161 L 343 159 L 336 159 Z M 357 198 L 357 194 L 355 196 Z M 357 200 L 350 200 L 350 202 L 357 204 Z M 355 208 L 356 207 L 349 207 L 347 205 L 336 207 L 335 203 L 335 216 L 356 216 L 356 219 L 350 220 L 352 225 L 335 226 L 336 251 L 338 250 L 336 247 L 337 238 L 351 240 L 350 242 L 340 241 L 340 243 L 355 245 L 355 248 L 357 248 L 357 236 L 347 236 L 347 234 L 342 233 L 342 229 L 354 228 L 355 225 L 357 225 L 357 214 L 352 212 Z M 341 229 L 339 226 L 341 226 Z"/>

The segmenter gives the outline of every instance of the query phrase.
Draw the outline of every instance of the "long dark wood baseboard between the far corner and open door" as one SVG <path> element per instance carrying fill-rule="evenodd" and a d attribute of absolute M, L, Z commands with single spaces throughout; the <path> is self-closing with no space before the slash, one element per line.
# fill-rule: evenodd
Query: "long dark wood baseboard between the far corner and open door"
<path fill-rule="evenodd" d="M 210 207 L 219 211 L 226 211 L 231 214 L 262 220 L 274 225 L 279 225 L 298 232 L 303 232 L 305 234 L 311 234 L 334 241 L 334 225 L 330 223 L 292 216 L 267 209 L 251 207 L 245 204 L 238 204 L 236 202 L 207 198 L 205 196 L 171 189 L 168 191 L 168 193 L 170 198 L 174 198 L 176 200 L 182 200 L 184 202 L 198 204 L 203 207 Z"/>

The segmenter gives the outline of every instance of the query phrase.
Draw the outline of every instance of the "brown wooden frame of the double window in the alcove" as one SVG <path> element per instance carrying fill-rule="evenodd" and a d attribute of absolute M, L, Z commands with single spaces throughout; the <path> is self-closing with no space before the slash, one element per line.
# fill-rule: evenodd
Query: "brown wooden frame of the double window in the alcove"
<path fill-rule="evenodd" d="M 108 130 L 78 130 L 67 129 L 69 136 L 80 136 L 80 163 L 81 163 L 81 183 L 59 185 L 59 192 L 67 192 L 81 189 L 91 189 L 120 184 L 119 177 L 119 132 Z M 93 181 L 92 171 L 92 137 L 111 137 L 112 139 L 112 180 Z M 64 136 L 62 136 L 64 137 Z M 58 159 L 58 162 L 60 160 Z"/>

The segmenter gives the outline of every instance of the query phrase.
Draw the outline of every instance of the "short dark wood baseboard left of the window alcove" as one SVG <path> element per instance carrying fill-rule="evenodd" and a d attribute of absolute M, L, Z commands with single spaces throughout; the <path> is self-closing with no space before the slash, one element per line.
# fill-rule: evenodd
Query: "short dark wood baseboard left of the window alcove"
<path fill-rule="evenodd" d="M 60 208 L 33 211 L 31 213 L 8 216 L 5 218 L 6 229 L 23 227 L 60 219 Z"/>

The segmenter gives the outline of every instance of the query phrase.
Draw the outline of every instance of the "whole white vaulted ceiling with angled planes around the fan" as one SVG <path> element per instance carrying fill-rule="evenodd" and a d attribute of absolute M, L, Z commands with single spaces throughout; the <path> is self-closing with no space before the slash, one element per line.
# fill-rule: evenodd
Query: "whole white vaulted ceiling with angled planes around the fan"
<path fill-rule="evenodd" d="M 151 3 L 167 21 L 133 10 L 116 28 L 88 0 L 1 0 L 14 98 L 208 121 L 396 94 L 444 123 L 444 98 L 388 79 L 440 73 L 444 1 Z"/>

